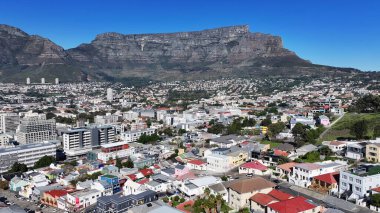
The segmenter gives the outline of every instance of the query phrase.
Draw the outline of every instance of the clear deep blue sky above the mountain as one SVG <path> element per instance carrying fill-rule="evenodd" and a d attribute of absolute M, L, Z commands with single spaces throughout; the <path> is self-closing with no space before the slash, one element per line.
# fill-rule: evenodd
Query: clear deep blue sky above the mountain
<path fill-rule="evenodd" d="M 54 2 L 54 3 L 53 3 Z M 0 23 L 64 48 L 103 32 L 157 33 L 248 24 L 313 63 L 380 71 L 379 0 L 8 0 Z"/>

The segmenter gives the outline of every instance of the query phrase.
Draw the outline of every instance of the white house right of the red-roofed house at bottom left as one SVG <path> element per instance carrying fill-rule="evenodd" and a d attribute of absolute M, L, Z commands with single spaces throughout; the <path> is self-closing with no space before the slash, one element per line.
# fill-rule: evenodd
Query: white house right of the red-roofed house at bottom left
<path fill-rule="evenodd" d="M 102 193 L 96 189 L 85 189 L 69 193 L 66 195 L 66 207 L 70 212 L 78 211 L 94 205 L 101 196 Z"/>

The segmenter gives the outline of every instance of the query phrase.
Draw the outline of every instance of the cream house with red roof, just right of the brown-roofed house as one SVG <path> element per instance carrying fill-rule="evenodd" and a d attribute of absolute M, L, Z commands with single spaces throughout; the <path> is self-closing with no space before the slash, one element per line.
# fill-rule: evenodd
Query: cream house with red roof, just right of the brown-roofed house
<path fill-rule="evenodd" d="M 253 212 L 267 212 L 268 205 L 293 198 L 292 195 L 273 189 L 268 194 L 256 193 L 250 198 L 250 209 Z"/>

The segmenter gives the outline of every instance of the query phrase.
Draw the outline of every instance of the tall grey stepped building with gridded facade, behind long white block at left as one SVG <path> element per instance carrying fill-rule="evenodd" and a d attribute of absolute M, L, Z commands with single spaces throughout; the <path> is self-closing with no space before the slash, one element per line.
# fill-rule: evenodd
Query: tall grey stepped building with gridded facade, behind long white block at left
<path fill-rule="evenodd" d="M 16 137 L 20 144 L 55 140 L 57 137 L 55 120 L 46 119 L 45 114 L 25 116 L 20 121 Z"/>

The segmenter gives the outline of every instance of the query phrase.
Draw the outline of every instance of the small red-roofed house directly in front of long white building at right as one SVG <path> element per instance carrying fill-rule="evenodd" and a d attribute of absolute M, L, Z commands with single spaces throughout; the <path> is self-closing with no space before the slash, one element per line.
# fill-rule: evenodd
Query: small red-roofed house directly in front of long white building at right
<path fill-rule="evenodd" d="M 339 172 L 331 172 L 315 176 L 309 188 L 321 194 L 335 195 L 339 193 L 338 183 Z"/>

